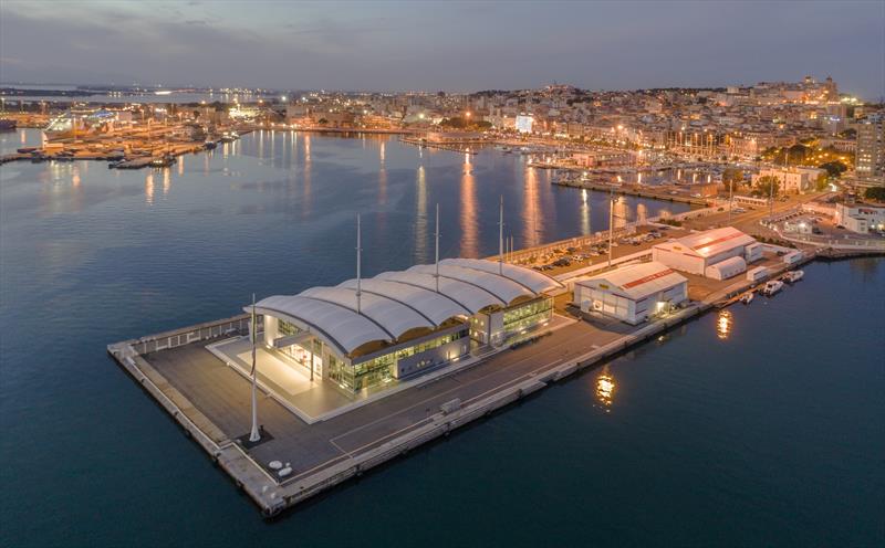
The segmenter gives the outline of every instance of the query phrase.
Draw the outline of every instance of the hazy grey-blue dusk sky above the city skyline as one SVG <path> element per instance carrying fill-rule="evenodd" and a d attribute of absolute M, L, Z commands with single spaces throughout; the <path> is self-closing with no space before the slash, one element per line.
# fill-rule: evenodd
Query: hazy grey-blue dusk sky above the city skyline
<path fill-rule="evenodd" d="M 885 0 L 0 0 L 0 82 L 589 89 L 832 75 L 885 95 Z"/>

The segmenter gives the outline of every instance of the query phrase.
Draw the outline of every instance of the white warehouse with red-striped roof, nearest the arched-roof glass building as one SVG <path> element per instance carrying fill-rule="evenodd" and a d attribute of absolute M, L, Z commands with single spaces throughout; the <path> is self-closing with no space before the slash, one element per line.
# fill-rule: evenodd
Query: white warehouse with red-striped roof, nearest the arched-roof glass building
<path fill-rule="evenodd" d="M 582 312 L 636 325 L 688 299 L 688 281 L 652 262 L 625 266 L 574 284 L 573 303 Z"/>

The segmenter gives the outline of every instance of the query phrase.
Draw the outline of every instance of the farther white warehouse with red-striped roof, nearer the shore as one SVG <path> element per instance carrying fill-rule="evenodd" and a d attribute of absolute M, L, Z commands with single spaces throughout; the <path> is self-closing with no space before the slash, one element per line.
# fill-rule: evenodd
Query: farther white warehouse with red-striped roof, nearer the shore
<path fill-rule="evenodd" d="M 652 247 L 652 259 L 670 268 L 707 275 L 707 267 L 731 257 L 747 263 L 762 259 L 762 245 L 752 236 L 725 226 L 697 232 Z"/>

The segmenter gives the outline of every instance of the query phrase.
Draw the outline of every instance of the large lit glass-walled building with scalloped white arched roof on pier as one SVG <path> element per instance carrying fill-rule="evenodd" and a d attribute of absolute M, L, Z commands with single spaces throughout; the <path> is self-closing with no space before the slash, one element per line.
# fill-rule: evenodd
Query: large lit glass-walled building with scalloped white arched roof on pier
<path fill-rule="evenodd" d="M 531 268 L 446 259 L 264 298 L 259 340 L 312 378 L 373 391 L 530 336 L 550 322 L 559 288 Z"/>

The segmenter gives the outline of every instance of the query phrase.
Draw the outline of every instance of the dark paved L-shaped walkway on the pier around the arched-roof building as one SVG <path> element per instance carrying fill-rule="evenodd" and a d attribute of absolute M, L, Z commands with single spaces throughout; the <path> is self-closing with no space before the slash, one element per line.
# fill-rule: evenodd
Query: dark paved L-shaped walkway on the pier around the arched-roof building
<path fill-rule="evenodd" d="M 262 466 L 273 460 L 291 463 L 293 475 L 298 476 L 418 428 L 455 398 L 470 402 L 635 330 L 623 324 L 604 328 L 572 324 L 469 369 L 314 424 L 299 420 L 273 398 L 262 394 L 259 420 L 273 440 L 249 453 Z M 250 383 L 205 346 L 187 345 L 147 355 L 145 359 L 230 439 L 239 438 L 250 424 Z"/>

